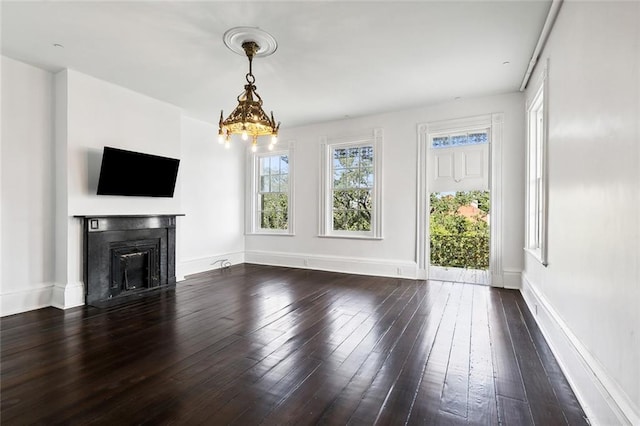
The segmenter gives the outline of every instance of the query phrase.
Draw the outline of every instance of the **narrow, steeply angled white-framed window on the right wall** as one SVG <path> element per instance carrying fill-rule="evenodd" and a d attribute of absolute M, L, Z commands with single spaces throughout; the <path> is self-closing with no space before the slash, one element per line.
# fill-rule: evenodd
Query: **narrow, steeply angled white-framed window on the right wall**
<path fill-rule="evenodd" d="M 546 115 L 545 79 L 527 108 L 527 249 L 546 264 Z"/>

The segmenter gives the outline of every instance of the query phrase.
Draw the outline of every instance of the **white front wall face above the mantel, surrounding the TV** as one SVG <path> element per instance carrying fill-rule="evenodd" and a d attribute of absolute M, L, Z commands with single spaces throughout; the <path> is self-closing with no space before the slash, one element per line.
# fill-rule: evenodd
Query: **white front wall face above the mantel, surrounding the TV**
<path fill-rule="evenodd" d="M 63 74 L 69 215 L 180 213 L 179 182 L 173 198 L 96 195 L 104 146 L 180 157 L 180 109 L 77 71 Z"/>

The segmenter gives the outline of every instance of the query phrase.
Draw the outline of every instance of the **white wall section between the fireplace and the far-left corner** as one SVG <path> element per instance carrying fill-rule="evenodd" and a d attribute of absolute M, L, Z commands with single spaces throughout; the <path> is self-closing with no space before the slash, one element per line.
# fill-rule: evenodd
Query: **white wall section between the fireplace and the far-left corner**
<path fill-rule="evenodd" d="M 178 276 L 244 262 L 244 146 L 217 139 L 217 126 L 182 118 Z"/>

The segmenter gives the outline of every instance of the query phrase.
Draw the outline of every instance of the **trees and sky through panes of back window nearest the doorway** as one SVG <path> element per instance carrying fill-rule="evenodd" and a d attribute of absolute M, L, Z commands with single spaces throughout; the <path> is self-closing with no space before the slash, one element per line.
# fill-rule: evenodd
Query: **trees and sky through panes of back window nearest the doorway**
<path fill-rule="evenodd" d="M 333 229 L 371 231 L 373 146 L 333 150 Z"/>

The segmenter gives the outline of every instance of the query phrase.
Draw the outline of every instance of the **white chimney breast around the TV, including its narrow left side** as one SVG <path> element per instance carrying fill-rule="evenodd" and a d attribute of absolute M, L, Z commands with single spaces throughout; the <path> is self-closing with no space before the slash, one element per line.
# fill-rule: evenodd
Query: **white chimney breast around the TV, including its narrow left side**
<path fill-rule="evenodd" d="M 73 70 L 56 75 L 53 306 L 84 304 L 82 220 L 74 216 L 181 213 L 180 172 L 173 198 L 96 195 L 104 146 L 179 158 L 180 125 L 181 111 L 173 105 Z"/>

